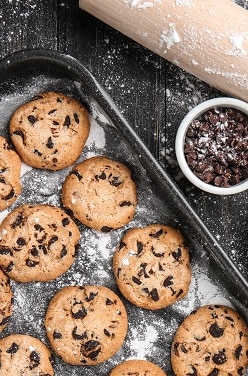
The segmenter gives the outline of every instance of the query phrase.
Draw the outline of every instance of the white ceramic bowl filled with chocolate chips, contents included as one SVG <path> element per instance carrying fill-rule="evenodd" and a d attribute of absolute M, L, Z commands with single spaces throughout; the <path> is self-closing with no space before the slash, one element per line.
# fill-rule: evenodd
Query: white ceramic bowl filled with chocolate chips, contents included
<path fill-rule="evenodd" d="M 175 150 L 196 187 L 219 195 L 248 189 L 248 103 L 228 97 L 200 103 L 182 120 Z"/>

